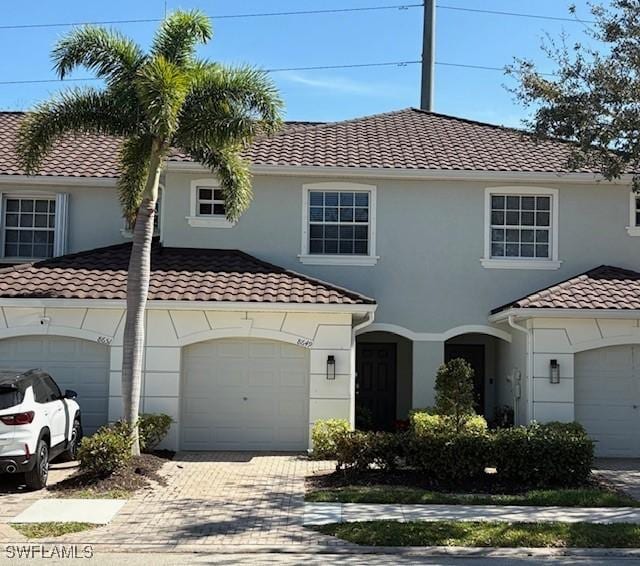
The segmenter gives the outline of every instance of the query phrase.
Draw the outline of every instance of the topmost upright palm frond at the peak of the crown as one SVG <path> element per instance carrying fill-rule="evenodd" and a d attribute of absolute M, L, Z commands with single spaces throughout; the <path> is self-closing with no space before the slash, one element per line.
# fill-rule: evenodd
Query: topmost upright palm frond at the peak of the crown
<path fill-rule="evenodd" d="M 187 65 L 193 59 L 196 46 L 209 41 L 212 35 L 211 21 L 204 12 L 174 12 L 156 32 L 151 55 L 164 57 L 178 66 Z"/>

